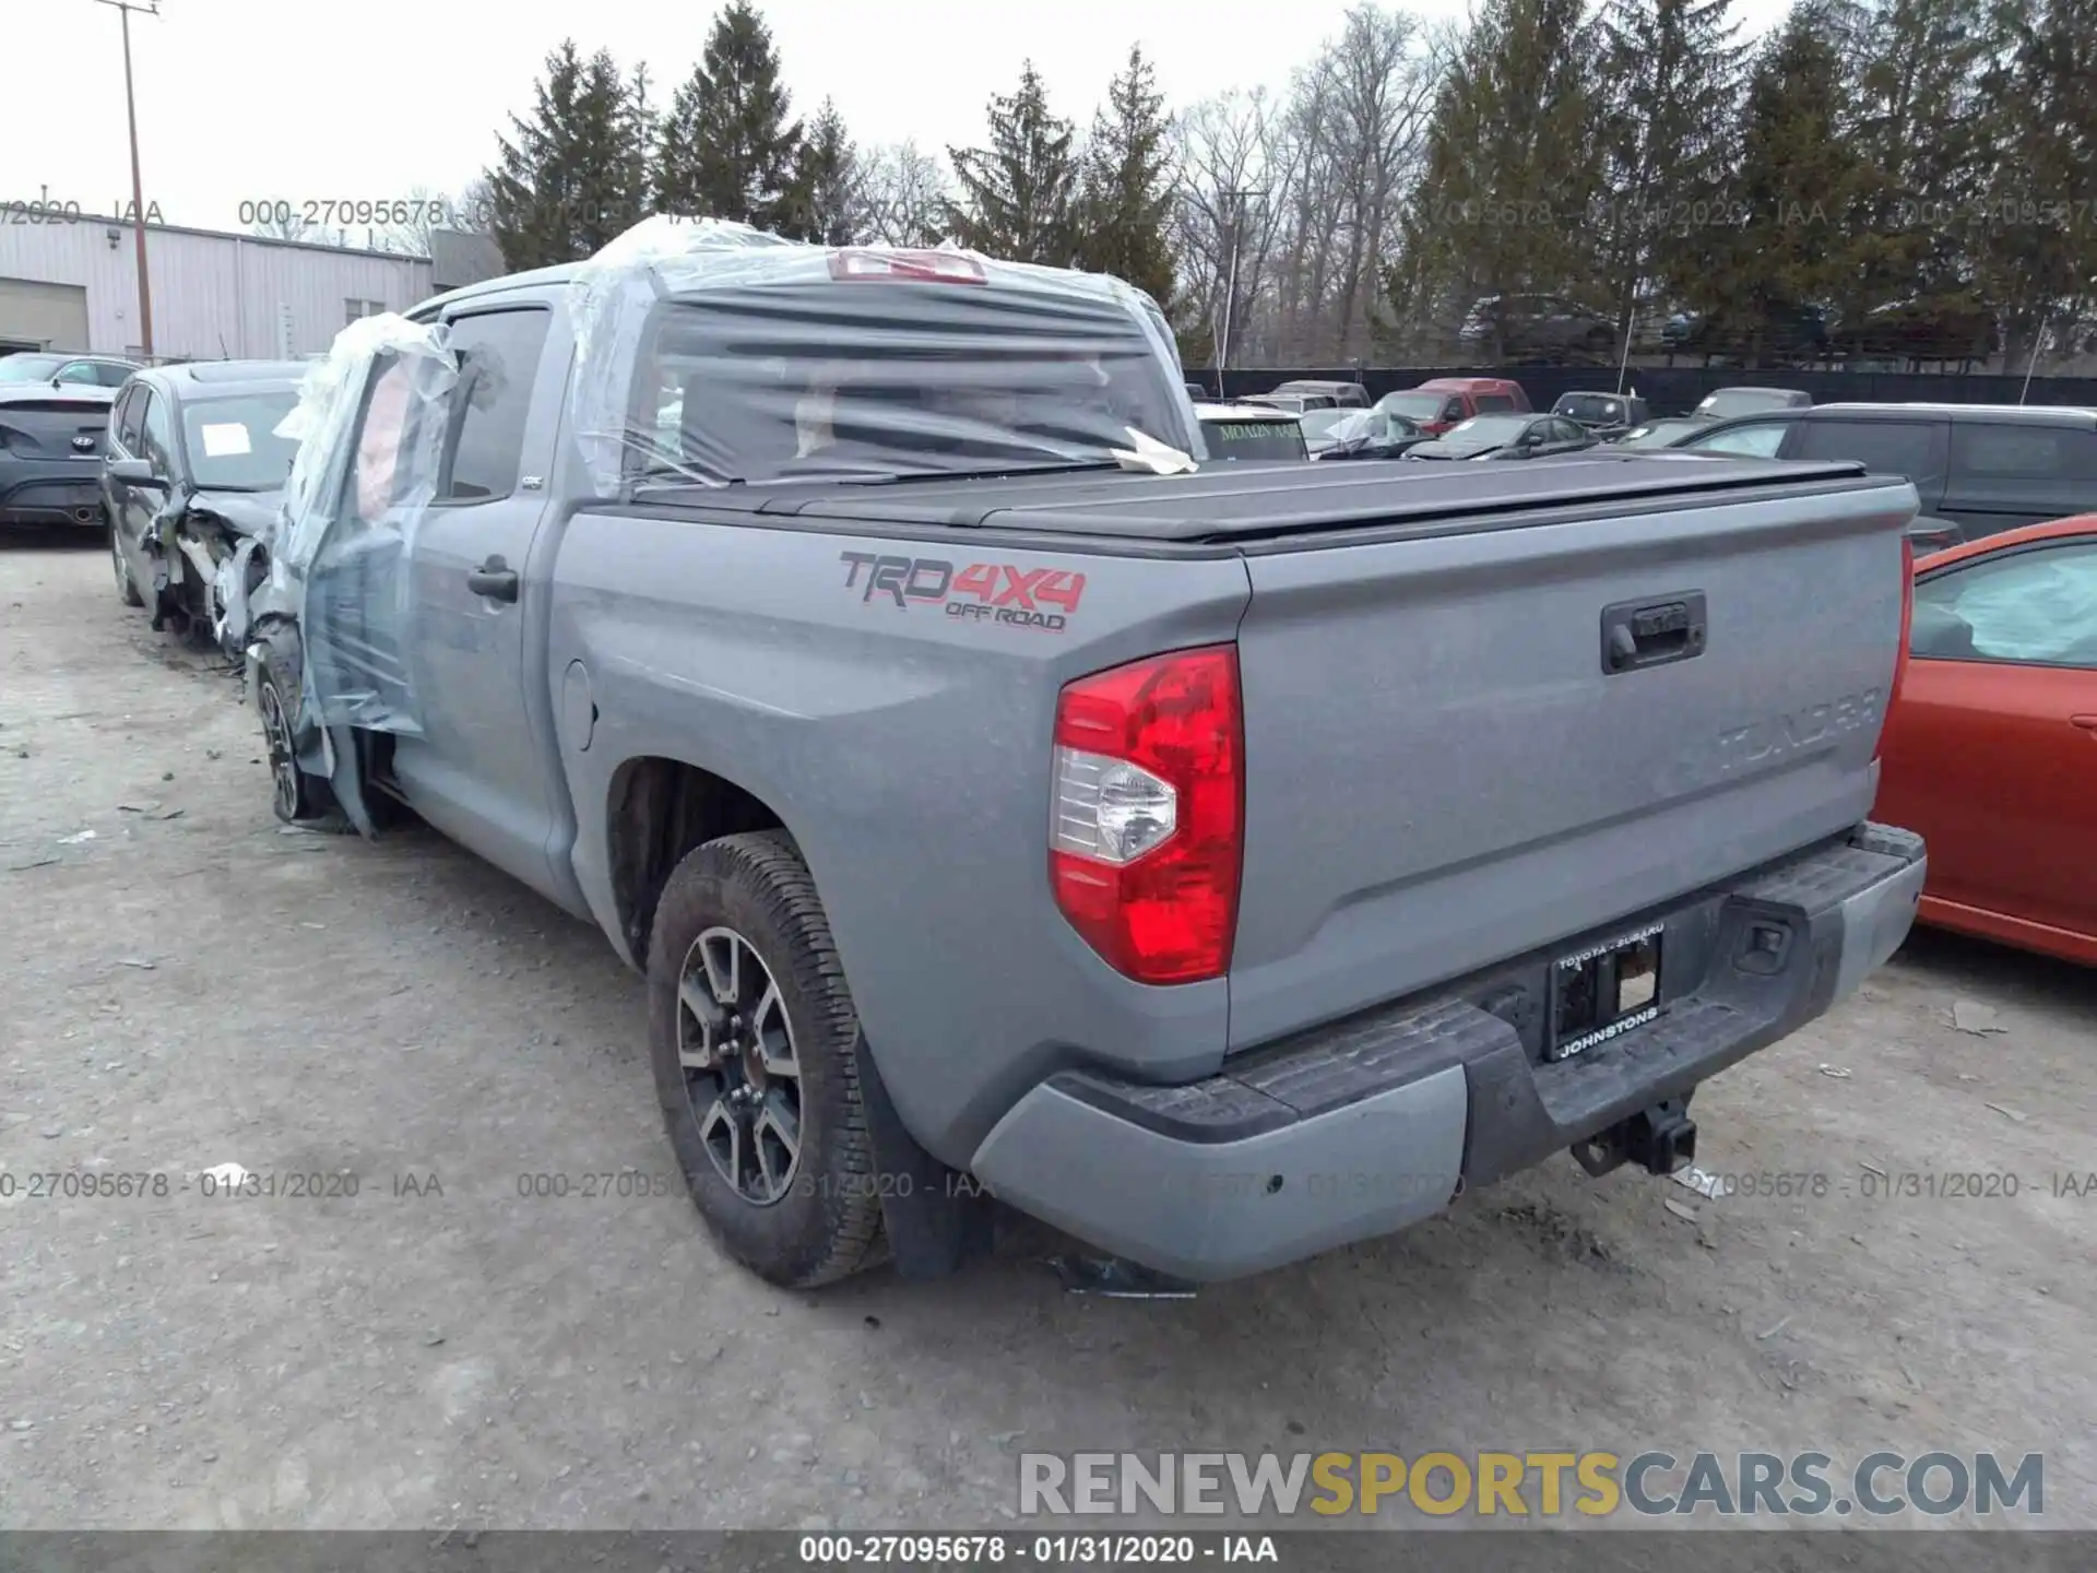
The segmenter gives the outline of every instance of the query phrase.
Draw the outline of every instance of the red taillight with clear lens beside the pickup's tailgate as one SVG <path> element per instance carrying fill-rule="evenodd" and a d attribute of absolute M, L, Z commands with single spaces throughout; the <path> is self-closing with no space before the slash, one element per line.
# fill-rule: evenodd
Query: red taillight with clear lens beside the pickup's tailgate
<path fill-rule="evenodd" d="M 1048 881 L 1084 942 L 1139 984 L 1231 967 L 1244 755 L 1231 644 L 1080 677 L 1057 698 Z"/>

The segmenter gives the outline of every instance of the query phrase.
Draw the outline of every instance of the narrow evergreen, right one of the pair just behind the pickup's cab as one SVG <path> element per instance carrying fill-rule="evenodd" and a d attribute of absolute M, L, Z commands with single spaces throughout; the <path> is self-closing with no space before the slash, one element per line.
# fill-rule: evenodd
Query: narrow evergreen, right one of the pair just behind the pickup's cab
<path fill-rule="evenodd" d="M 1093 117 L 1076 201 L 1078 266 L 1111 273 L 1172 310 L 1172 172 L 1170 122 L 1158 73 L 1143 46 L 1107 84 L 1107 103 Z"/>

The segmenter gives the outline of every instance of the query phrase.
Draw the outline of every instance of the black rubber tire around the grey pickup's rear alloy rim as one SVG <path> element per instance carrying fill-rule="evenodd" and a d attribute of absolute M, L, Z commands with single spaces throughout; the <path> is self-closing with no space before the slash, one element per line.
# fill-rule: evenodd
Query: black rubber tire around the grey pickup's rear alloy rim
<path fill-rule="evenodd" d="M 717 1158 L 721 1120 L 728 1118 L 721 1084 L 736 1074 L 738 1057 L 723 1053 L 726 1068 L 719 1072 L 694 1070 L 682 1059 L 682 1044 L 690 1042 L 698 1017 L 679 984 L 688 967 L 698 967 L 694 956 L 700 956 L 702 935 L 721 946 L 721 933 L 749 946 L 778 990 L 795 1061 L 797 1151 L 784 1175 L 751 1170 L 755 1183 L 774 1191 L 763 1202 L 738 1187 Z M 692 977 L 705 988 L 702 967 Z M 742 992 L 749 990 L 751 984 L 744 984 Z M 717 990 L 702 1003 L 713 1009 Z M 755 1011 L 751 1019 L 763 1028 L 761 1017 L 763 1011 Z M 793 839 L 784 831 L 757 831 L 686 854 L 663 887 L 648 944 L 648 1055 L 656 1097 L 700 1216 L 730 1256 L 772 1284 L 816 1288 L 883 1260 L 881 1195 L 860 1101 L 858 1042 L 860 1015 L 845 988 L 830 921 Z M 759 1105 L 782 1093 L 780 1076 L 774 1070 L 770 1086 L 757 1089 Z M 765 1133 L 738 1141 L 761 1151 Z M 742 1170 L 744 1147 L 736 1145 L 734 1154 L 728 1162 Z"/>

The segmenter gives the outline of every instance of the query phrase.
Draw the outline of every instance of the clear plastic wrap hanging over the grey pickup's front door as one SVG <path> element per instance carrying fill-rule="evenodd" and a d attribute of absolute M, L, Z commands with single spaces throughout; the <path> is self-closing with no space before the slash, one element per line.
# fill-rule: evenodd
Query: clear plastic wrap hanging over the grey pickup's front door
<path fill-rule="evenodd" d="M 442 325 L 365 317 L 308 367 L 277 426 L 300 449 L 268 585 L 247 610 L 298 617 L 306 715 L 321 726 L 421 730 L 405 661 L 409 554 L 457 380 Z"/>

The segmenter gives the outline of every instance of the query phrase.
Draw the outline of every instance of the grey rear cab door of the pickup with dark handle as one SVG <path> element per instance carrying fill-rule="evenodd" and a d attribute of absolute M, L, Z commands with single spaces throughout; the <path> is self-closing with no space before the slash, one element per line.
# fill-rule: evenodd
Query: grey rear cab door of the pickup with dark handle
<path fill-rule="evenodd" d="M 419 736 L 392 774 L 430 824 L 539 891 L 554 822 L 541 682 L 526 627 L 543 585 L 526 581 L 545 516 L 545 459 L 560 422 L 566 357 L 543 357 L 552 310 L 512 304 L 447 317 L 459 382 L 436 497 L 409 550 L 409 648 Z M 541 631 L 543 640 L 543 631 Z"/>

